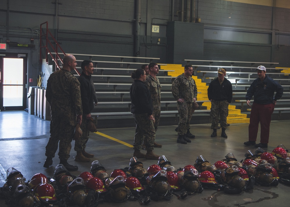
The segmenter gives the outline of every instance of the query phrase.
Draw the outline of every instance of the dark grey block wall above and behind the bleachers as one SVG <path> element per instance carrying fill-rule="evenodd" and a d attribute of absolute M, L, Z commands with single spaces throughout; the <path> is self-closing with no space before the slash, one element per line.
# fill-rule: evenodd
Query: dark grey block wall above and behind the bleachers
<path fill-rule="evenodd" d="M 7 39 L 7 2 L 0 0 L 1 42 Z M 195 2 L 195 17 L 200 18 L 204 25 L 204 41 L 203 46 L 190 47 L 188 41 L 182 41 L 185 37 L 183 30 L 168 27 L 172 15 L 171 1 L 141 0 L 140 56 L 160 57 L 159 63 L 185 64 L 182 59 L 194 58 L 273 61 L 290 67 L 290 7 L 273 8 L 224 0 Z M 58 3 L 55 21 L 56 0 L 10 0 L 10 41 L 30 44 L 31 33 L 28 31 L 39 31 L 39 25 L 48 21 L 53 34 L 57 26 L 58 41 L 66 52 L 134 55 L 135 0 L 58 0 Z M 175 0 L 174 21 L 181 20 L 181 10 L 181 0 Z M 152 33 L 151 24 L 159 25 L 160 32 Z M 174 32 L 178 45 L 169 40 L 173 37 L 171 32 Z M 197 43 L 193 40 L 200 40 L 202 35 L 195 30 L 189 34 L 192 44 Z M 161 41 L 157 44 L 159 38 Z M 34 39 L 38 45 L 37 37 Z M 5 52 L 28 54 L 28 66 L 31 65 L 28 75 L 37 79 L 37 50 L 31 52 L 31 48 L 12 48 L 9 45 L 7 48 Z M 180 48 L 186 48 L 186 52 Z"/>

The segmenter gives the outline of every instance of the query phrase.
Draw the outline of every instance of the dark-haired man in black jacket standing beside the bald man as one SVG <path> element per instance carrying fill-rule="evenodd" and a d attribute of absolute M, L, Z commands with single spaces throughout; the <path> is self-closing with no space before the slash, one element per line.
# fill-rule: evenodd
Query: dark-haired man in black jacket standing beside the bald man
<path fill-rule="evenodd" d="M 94 72 L 93 62 L 89 60 L 84 60 L 81 63 L 81 75 L 78 80 L 81 84 L 81 104 L 83 106 L 83 118 L 81 123 L 81 130 L 83 131 L 82 136 L 75 140 L 75 151 L 77 155 L 75 156 L 75 161 L 88 162 L 90 157 L 94 157 L 93 154 L 89 154 L 85 151 L 86 143 L 88 142 L 90 131 L 87 128 L 87 124 L 91 119 L 91 110 L 94 108 L 94 99 L 92 86 L 90 83 L 91 75 Z"/>

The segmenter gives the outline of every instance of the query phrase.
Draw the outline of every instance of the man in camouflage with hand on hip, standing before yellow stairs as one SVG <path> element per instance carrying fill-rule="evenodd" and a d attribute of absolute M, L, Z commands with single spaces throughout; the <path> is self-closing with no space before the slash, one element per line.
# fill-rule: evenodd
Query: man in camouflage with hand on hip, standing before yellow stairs
<path fill-rule="evenodd" d="M 187 144 L 191 142 L 188 138 L 194 138 L 189 131 L 192 116 L 193 102 L 196 101 L 197 88 L 195 81 L 191 77 L 193 69 L 191 65 L 184 66 L 184 73 L 177 76 L 172 83 L 172 95 L 177 100 L 177 110 L 179 113 L 179 123 L 177 127 L 177 143 Z"/>

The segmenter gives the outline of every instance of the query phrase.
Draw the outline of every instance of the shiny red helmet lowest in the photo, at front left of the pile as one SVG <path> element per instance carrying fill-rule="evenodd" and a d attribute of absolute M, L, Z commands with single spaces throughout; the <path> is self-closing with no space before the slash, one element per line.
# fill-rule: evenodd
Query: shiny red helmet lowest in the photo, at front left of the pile
<path fill-rule="evenodd" d="M 57 197 L 55 196 L 55 189 L 49 183 L 43 183 L 38 185 L 35 188 L 34 195 L 39 199 L 49 201 L 56 201 Z"/>

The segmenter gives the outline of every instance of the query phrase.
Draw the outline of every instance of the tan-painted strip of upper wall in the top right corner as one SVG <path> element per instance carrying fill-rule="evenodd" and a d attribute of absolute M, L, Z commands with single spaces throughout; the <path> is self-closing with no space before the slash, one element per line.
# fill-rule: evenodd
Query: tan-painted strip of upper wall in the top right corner
<path fill-rule="evenodd" d="M 224 1 L 233 1 L 238 3 L 249 3 L 290 9 L 289 0 L 224 0 Z"/>

